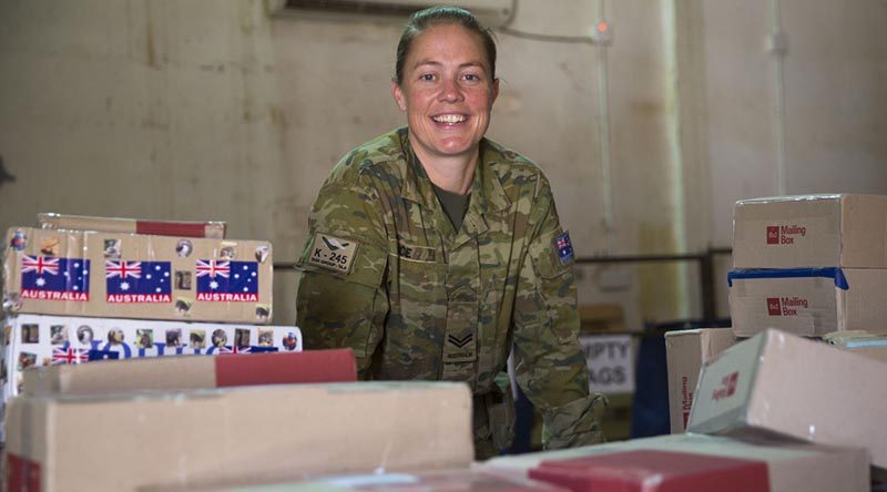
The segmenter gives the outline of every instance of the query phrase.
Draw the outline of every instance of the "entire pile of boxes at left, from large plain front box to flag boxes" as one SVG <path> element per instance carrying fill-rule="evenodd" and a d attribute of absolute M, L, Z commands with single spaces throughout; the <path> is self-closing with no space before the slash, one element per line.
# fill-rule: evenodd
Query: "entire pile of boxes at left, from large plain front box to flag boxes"
<path fill-rule="evenodd" d="M 218 224 L 41 219 L 7 236 L 6 490 L 471 463 L 468 387 L 336 382 L 357 379 L 350 350 L 302 352 L 297 328 L 265 325 L 268 243 L 225 239 Z M 115 360 L 81 363 L 100 359 Z"/>

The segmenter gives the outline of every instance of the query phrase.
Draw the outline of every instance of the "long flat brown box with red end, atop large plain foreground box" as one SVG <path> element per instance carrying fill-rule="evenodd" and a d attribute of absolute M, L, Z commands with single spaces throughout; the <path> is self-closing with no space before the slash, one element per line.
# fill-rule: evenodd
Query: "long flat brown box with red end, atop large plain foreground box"
<path fill-rule="evenodd" d="M 96 394 L 357 380 L 350 349 L 101 360 L 24 371 L 24 394 Z"/>

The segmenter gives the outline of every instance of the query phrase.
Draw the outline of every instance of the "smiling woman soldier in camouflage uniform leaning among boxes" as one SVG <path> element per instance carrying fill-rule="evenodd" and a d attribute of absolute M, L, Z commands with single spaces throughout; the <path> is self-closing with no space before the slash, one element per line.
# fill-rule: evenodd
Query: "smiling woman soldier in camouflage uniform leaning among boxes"
<path fill-rule="evenodd" d="M 601 442 L 573 250 L 548 180 L 483 137 L 499 93 L 490 31 L 463 9 L 417 12 L 391 93 L 407 126 L 348 153 L 312 208 L 296 301 L 305 347 L 350 347 L 361 379 L 465 381 L 485 459 L 512 439 L 496 376 L 513 346 L 543 444 Z"/>

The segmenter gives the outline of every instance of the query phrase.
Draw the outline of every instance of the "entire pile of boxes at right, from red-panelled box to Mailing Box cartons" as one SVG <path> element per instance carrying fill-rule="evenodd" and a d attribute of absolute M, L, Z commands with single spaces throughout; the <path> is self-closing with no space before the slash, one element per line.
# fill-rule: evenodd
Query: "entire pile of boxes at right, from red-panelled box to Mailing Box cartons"
<path fill-rule="evenodd" d="M 887 471 L 887 341 L 871 335 L 887 329 L 887 197 L 743 201 L 734 227 L 732 329 L 666 335 L 687 433 L 485 468 L 574 492 L 870 490 Z"/>

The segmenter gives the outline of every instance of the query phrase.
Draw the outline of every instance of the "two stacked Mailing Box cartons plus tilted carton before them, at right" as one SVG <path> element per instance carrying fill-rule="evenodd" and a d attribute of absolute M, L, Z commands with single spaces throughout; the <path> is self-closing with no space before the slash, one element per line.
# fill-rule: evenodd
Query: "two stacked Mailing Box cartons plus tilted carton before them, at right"
<path fill-rule="evenodd" d="M 884 339 L 869 335 L 887 330 L 887 196 L 741 201 L 733 236 L 733 331 L 753 338 L 704 365 L 687 430 L 863 447 L 887 470 Z"/>

